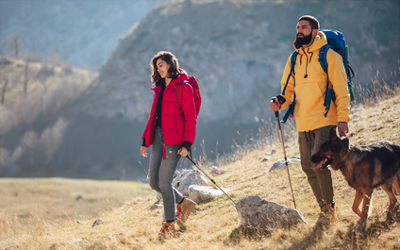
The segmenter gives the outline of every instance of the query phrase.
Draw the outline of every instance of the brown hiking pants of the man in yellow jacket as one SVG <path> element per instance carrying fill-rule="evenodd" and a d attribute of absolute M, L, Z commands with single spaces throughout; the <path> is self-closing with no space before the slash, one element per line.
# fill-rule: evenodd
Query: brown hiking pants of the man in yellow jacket
<path fill-rule="evenodd" d="M 332 175 L 329 168 L 314 171 L 317 163 L 310 157 L 319 151 L 321 145 L 329 139 L 329 131 L 336 126 L 322 127 L 309 132 L 299 132 L 301 167 L 307 175 L 308 183 L 320 207 L 334 203 Z"/>

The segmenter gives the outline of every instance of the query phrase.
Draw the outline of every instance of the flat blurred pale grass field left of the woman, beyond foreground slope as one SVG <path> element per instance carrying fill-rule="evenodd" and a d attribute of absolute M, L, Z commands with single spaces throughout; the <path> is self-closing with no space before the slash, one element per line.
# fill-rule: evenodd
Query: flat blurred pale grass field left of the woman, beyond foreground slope
<path fill-rule="evenodd" d="M 150 193 L 147 184 L 128 181 L 0 179 L 0 249 L 85 223 Z M 16 244 L 18 245 L 18 244 Z M 33 249 L 40 249 L 32 246 Z"/>

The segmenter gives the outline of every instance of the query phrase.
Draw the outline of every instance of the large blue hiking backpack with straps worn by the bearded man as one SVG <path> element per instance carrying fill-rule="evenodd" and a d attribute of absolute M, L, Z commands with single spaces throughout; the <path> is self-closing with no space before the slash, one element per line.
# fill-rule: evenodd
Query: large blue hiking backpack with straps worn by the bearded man
<path fill-rule="evenodd" d="M 329 29 L 321 29 L 320 31 L 324 32 L 328 44 L 324 45 L 321 47 L 319 50 L 319 57 L 318 61 L 321 64 L 322 69 L 325 71 L 325 73 L 328 75 L 328 62 L 326 60 L 326 54 L 329 49 L 333 49 L 336 53 L 338 53 L 342 59 L 343 59 L 343 65 L 346 71 L 347 75 L 347 87 L 349 88 L 349 93 L 350 93 L 350 102 L 355 100 L 354 96 L 354 91 L 353 91 L 353 83 L 352 83 L 352 78 L 354 77 L 354 71 L 350 67 L 349 61 L 348 61 L 348 53 L 349 53 L 349 47 L 346 45 L 346 40 L 344 39 L 343 34 L 340 31 L 337 30 L 329 30 Z M 289 83 L 289 79 L 294 73 L 294 65 L 296 63 L 296 58 L 297 58 L 298 52 L 295 50 L 291 56 L 290 59 L 290 72 L 289 76 L 286 80 L 286 85 L 283 88 L 282 94 L 285 94 L 286 87 Z M 331 105 L 331 102 L 336 100 L 335 93 L 333 92 L 333 89 L 329 89 L 329 77 L 327 79 L 326 83 L 326 92 L 325 92 L 325 100 L 324 100 L 324 106 L 326 107 L 326 112 L 325 112 L 325 117 L 328 115 L 329 108 Z M 288 111 L 284 115 L 282 119 L 282 123 L 285 123 L 287 119 L 290 117 L 294 117 L 294 105 L 296 104 L 296 94 L 293 96 L 293 102 L 290 104 Z"/>

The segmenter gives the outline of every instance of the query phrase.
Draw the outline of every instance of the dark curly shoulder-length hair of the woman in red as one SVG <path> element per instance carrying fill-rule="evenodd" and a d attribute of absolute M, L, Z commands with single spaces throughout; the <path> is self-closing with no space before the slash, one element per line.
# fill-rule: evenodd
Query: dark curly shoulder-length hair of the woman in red
<path fill-rule="evenodd" d="M 159 84 L 163 79 L 157 71 L 157 60 L 162 59 L 170 65 L 168 73 L 171 78 L 179 75 L 179 62 L 178 59 L 168 51 L 160 51 L 150 61 L 151 66 L 151 82 L 155 85 Z"/>

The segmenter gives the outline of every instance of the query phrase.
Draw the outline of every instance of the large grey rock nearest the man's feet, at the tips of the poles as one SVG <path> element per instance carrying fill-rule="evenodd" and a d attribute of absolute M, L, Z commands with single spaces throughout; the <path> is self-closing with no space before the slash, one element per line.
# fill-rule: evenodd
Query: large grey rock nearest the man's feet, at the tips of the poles
<path fill-rule="evenodd" d="M 299 211 L 258 196 L 248 196 L 240 200 L 236 203 L 236 209 L 243 226 L 271 230 L 307 223 Z"/>

